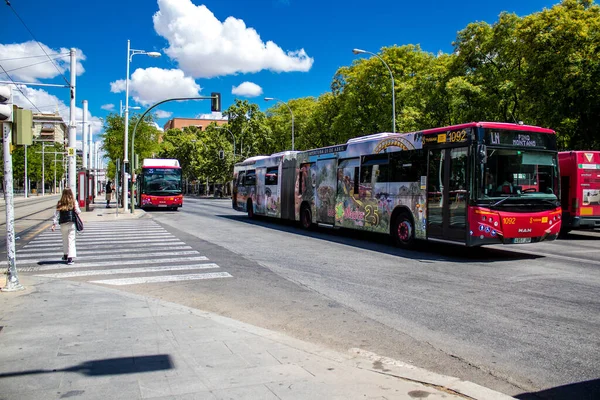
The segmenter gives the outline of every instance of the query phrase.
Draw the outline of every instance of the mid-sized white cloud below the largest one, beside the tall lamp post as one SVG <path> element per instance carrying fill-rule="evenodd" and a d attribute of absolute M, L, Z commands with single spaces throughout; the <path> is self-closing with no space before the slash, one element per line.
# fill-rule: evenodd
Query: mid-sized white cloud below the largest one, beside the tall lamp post
<path fill-rule="evenodd" d="M 129 80 L 129 95 L 143 106 L 172 97 L 195 97 L 202 88 L 180 69 L 138 68 Z M 110 91 L 125 91 L 125 80 L 110 83 Z"/>

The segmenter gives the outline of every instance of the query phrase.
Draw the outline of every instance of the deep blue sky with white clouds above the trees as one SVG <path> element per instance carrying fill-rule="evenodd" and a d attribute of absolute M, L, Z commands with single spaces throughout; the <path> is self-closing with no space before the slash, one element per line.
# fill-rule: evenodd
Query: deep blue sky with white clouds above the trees
<path fill-rule="evenodd" d="M 449 53 L 457 31 L 470 22 L 494 23 L 502 11 L 524 16 L 559 0 L 11 0 L 36 39 L 50 54 L 77 48 L 77 119 L 88 100 L 94 134 L 101 118 L 125 102 L 127 39 L 133 49 L 161 52 L 136 55 L 130 65 L 130 105 L 143 108 L 168 97 L 221 92 L 223 107 L 235 98 L 266 110 L 264 97 L 289 99 L 329 91 L 341 66 L 393 45 L 419 44 Z M 2 7 L 0 65 L 15 81 L 64 83 L 13 11 Z M 364 57 L 364 55 L 362 56 Z M 19 58 L 18 60 L 16 58 Z M 68 56 L 57 67 L 69 79 Z M 24 68 L 25 67 L 25 68 Z M 0 80 L 7 80 L 0 70 Z M 42 111 L 57 107 L 68 120 L 67 89 L 23 88 Z M 16 102 L 34 108 L 22 95 Z M 111 107 L 112 105 L 112 107 Z M 210 114 L 209 101 L 159 107 L 169 118 Z"/>

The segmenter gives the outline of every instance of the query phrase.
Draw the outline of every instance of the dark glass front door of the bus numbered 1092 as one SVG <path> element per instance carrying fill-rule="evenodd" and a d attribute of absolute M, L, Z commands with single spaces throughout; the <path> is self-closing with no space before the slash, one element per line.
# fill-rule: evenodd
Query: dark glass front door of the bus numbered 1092
<path fill-rule="evenodd" d="M 466 241 L 468 148 L 429 150 L 427 237 Z"/>

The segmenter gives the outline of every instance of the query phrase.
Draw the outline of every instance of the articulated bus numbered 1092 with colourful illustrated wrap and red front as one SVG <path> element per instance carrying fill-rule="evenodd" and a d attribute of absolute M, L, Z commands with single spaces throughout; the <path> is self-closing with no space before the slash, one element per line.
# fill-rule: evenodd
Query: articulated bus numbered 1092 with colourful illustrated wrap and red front
<path fill-rule="evenodd" d="M 314 224 L 480 246 L 554 240 L 561 227 L 556 135 L 473 122 L 379 133 L 234 167 L 233 208 Z"/>

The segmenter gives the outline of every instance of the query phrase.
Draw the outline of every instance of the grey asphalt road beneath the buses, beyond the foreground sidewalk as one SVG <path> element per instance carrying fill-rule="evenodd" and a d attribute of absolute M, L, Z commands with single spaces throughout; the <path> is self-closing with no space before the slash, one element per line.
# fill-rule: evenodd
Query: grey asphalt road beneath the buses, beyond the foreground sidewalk
<path fill-rule="evenodd" d="M 600 377 L 599 233 L 541 245 L 424 243 L 402 251 L 384 236 L 250 220 L 230 200 L 186 199 L 179 212 L 152 216 L 235 253 L 230 261 L 246 269 L 240 287 L 186 288 L 199 308 L 510 395 Z"/>

